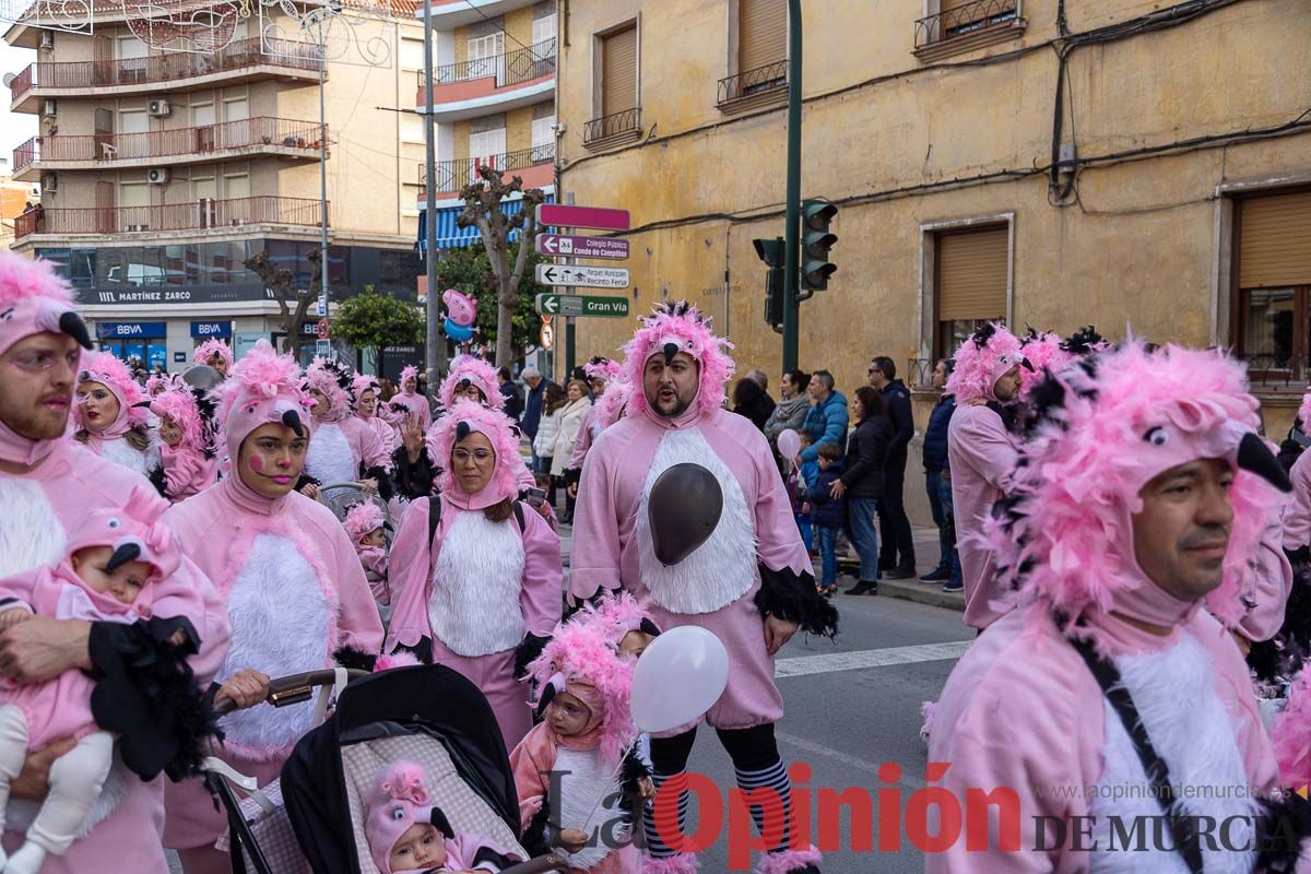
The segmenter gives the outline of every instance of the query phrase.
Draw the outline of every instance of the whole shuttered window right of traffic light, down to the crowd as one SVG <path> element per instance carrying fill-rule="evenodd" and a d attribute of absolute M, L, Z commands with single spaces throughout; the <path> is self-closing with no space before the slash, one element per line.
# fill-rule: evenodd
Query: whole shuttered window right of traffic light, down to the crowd
<path fill-rule="evenodd" d="M 954 352 L 985 322 L 1006 321 L 1008 240 L 1006 225 L 935 236 L 936 358 Z"/>

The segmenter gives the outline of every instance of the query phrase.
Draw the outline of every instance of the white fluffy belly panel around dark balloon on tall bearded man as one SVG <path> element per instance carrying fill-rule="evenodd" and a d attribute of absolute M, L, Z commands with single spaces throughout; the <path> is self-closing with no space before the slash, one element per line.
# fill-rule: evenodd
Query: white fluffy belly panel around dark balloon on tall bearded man
<path fill-rule="evenodd" d="M 709 539 L 676 565 L 663 565 L 652 544 L 648 515 L 652 486 L 675 464 L 691 461 L 709 470 L 724 493 L 724 512 Z M 637 502 L 637 557 L 652 600 L 675 613 L 713 613 L 746 595 L 755 583 L 755 523 L 742 486 L 705 442 L 700 428 L 675 428 L 661 438 L 642 497 Z"/>

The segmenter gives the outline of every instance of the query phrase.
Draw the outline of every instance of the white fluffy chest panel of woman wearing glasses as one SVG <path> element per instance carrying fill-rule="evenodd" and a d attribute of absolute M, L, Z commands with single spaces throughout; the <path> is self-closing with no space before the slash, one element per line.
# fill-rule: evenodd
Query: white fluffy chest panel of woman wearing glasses
<path fill-rule="evenodd" d="M 523 540 L 514 519 L 461 512 L 442 539 L 427 621 L 458 655 L 490 655 L 523 639 Z"/>

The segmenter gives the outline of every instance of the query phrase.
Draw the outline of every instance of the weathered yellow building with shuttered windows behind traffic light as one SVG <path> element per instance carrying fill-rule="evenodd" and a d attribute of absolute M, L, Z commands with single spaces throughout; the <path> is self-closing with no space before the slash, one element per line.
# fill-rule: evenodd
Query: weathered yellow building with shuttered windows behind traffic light
<path fill-rule="evenodd" d="M 636 312 L 776 371 L 785 0 L 561 0 L 561 197 L 632 211 Z M 801 366 L 923 384 L 985 320 L 1234 347 L 1272 435 L 1311 380 L 1303 0 L 805 3 L 802 197 L 839 207 Z M 1059 51 L 1057 51 L 1059 50 Z M 579 320 L 579 356 L 631 330 Z M 920 414 L 932 394 L 919 392 Z"/>

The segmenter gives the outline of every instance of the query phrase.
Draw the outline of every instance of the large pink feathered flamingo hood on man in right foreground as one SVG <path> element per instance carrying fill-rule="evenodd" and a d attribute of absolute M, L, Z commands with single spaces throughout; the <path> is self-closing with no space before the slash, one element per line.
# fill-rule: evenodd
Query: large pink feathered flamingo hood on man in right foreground
<path fill-rule="evenodd" d="M 1152 599 L 1163 590 L 1134 558 L 1131 514 L 1142 486 L 1159 473 L 1226 459 L 1236 474 L 1234 523 L 1223 583 L 1206 605 L 1236 624 L 1253 584 L 1248 557 L 1283 503 L 1281 491 L 1291 489 L 1256 434 L 1257 401 L 1243 366 L 1221 351 L 1148 352 L 1131 339 L 1067 367 L 1034 397 L 1037 419 L 1015 487 L 987 524 L 1002 579 L 1068 622 L 1117 609 L 1175 624 L 1177 616 L 1143 615 L 1162 608 Z"/>

